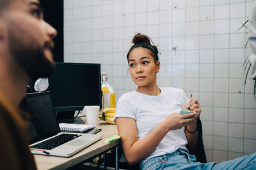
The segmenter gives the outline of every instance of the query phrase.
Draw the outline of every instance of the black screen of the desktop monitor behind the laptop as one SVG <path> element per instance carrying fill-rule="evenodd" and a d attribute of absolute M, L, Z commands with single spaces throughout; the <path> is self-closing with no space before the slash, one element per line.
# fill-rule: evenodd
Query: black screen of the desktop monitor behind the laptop
<path fill-rule="evenodd" d="M 83 110 L 86 105 L 101 108 L 100 64 L 56 62 L 47 90 L 55 111 Z"/>

